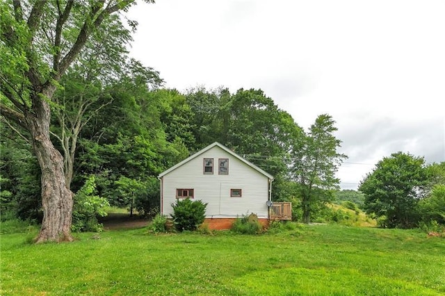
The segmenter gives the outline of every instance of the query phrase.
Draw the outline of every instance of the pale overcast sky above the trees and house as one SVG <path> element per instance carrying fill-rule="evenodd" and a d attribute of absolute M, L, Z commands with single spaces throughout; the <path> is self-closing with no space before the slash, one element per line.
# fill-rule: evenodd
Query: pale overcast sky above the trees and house
<path fill-rule="evenodd" d="M 131 56 L 168 88 L 261 88 L 305 130 L 332 115 L 341 188 L 357 189 L 397 151 L 445 161 L 444 15 L 442 0 L 157 0 L 129 12 Z"/>

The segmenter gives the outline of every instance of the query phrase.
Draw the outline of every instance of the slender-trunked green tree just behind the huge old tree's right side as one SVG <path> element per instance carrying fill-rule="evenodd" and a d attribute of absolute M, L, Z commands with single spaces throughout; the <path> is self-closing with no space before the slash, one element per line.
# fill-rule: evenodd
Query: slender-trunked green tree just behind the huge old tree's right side
<path fill-rule="evenodd" d="M 104 19 L 101 28 L 92 32 L 73 65 L 60 79 L 62 86 L 53 97 L 51 134 L 58 141 L 55 144 L 63 154 L 67 188 L 71 186 L 77 142 L 83 127 L 104 106 L 113 102 L 110 89 L 122 85 L 125 76 L 129 72 L 139 71 L 140 67 L 138 62 L 127 56 L 131 35 L 118 15 Z M 157 76 L 156 72 L 150 71 L 150 74 Z"/>

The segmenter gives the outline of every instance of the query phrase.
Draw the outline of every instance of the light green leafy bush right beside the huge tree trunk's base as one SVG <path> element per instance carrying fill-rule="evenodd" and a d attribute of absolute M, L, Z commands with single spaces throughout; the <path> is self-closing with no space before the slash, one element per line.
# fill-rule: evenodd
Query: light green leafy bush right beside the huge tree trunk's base
<path fill-rule="evenodd" d="M 72 213 L 72 231 L 95 231 L 104 229 L 97 221 L 97 216 L 106 216 L 108 201 L 95 195 L 95 177 L 90 176 L 82 188 L 76 192 Z"/>

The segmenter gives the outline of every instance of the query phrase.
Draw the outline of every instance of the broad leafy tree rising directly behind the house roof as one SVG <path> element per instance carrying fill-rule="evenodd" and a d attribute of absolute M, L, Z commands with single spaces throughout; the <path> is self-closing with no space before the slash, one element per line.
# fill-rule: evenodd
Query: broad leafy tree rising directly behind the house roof
<path fill-rule="evenodd" d="M 303 131 L 289 113 L 280 110 L 262 90 L 205 90 L 186 94 L 193 111 L 196 149 L 221 142 L 275 177 L 273 200 L 289 199 L 289 152 Z"/>

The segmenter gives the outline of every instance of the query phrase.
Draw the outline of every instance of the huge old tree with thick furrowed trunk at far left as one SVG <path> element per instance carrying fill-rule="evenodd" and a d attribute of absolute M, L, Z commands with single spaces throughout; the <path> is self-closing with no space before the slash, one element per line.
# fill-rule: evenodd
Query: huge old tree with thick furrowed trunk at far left
<path fill-rule="evenodd" d="M 58 81 L 93 32 L 134 1 L 6 1 L 0 3 L 1 115 L 19 126 L 38 159 L 42 228 L 36 242 L 73 240 L 73 193 L 63 156 L 51 142 L 51 106 Z"/>

